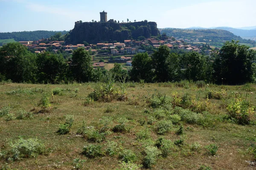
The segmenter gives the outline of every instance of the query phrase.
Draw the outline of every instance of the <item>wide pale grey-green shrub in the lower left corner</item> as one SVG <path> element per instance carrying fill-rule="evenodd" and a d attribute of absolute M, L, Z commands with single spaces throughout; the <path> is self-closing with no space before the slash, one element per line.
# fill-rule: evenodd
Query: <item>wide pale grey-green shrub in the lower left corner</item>
<path fill-rule="evenodd" d="M 38 139 L 19 139 L 10 144 L 9 156 L 13 160 L 36 157 L 45 151 L 45 146 Z"/>

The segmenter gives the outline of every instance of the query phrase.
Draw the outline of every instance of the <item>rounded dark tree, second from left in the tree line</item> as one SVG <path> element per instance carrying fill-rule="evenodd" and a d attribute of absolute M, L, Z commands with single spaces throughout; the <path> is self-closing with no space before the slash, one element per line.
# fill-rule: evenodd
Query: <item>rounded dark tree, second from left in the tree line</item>
<path fill-rule="evenodd" d="M 46 52 L 38 54 L 36 61 L 38 66 L 38 82 L 55 84 L 66 80 L 68 65 L 62 55 Z"/>

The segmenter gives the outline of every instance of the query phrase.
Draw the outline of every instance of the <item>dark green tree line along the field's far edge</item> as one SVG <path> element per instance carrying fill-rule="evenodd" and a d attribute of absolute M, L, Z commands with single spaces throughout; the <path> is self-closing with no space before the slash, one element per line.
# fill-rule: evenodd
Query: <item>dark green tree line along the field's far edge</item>
<path fill-rule="evenodd" d="M 204 56 L 198 52 L 175 53 L 167 46 L 148 56 L 136 54 L 131 71 L 121 64 L 107 71 L 92 67 L 92 57 L 84 48 L 73 52 L 71 59 L 61 54 L 33 54 L 20 43 L 8 43 L 0 48 L 0 81 L 27 83 L 98 82 L 106 74 L 116 81 L 177 82 L 203 80 L 217 84 L 243 84 L 256 81 L 256 52 L 236 41 L 225 42 L 219 53 Z"/>

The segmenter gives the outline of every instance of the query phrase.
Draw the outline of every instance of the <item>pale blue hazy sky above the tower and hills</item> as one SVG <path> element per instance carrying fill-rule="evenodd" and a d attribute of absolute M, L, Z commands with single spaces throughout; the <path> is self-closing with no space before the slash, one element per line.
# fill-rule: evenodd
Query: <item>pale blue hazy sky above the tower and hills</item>
<path fill-rule="evenodd" d="M 256 25 L 256 0 L 0 0 L 0 32 L 62 31 L 75 21 L 154 21 L 158 28 Z"/>

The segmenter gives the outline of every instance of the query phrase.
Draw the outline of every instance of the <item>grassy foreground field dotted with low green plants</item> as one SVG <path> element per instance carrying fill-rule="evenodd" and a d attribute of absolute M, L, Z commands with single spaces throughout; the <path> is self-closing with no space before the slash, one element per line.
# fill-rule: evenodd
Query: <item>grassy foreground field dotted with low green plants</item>
<path fill-rule="evenodd" d="M 201 166 L 207 166 L 211 170 L 256 169 L 255 165 L 250 166 L 256 160 L 252 149 L 256 144 L 255 122 L 239 125 L 226 119 L 226 108 L 232 99 L 243 98 L 256 104 L 256 85 L 129 83 L 125 90 L 125 101 L 88 101 L 88 94 L 97 85 L 0 84 L 0 167 L 70 170 L 75 169 L 74 167 L 79 169 L 81 165 L 84 170 L 128 170 L 123 168 L 127 165 L 121 161 L 131 160 L 133 163 L 130 164 L 137 164 L 140 169 L 146 168 L 145 162 L 151 162 L 153 170 L 198 170 Z M 119 86 L 116 85 L 116 88 Z M 215 99 L 206 99 L 209 91 L 214 94 L 211 98 L 215 96 Z M 43 108 L 38 103 L 45 99 L 42 98 L 44 95 L 49 97 L 51 103 L 47 110 L 49 112 L 43 113 L 40 112 Z M 168 97 L 164 97 L 165 95 Z M 180 113 L 188 114 L 178 116 L 176 111 L 180 110 L 175 105 L 194 112 L 182 110 Z M 192 105 L 195 107 L 191 108 Z M 6 116 L 3 116 L 4 107 L 10 108 Z M 30 118 L 15 119 L 20 110 L 31 112 L 32 115 Z M 66 115 L 73 115 L 74 122 L 69 133 L 60 135 L 57 131 L 60 124 L 64 124 Z M 106 120 L 106 116 L 111 122 L 103 125 L 100 122 Z M 121 118 L 127 122 L 119 124 L 118 120 L 120 122 Z M 83 120 L 87 133 L 80 135 L 77 132 L 82 127 Z M 252 120 L 255 121 L 253 118 Z M 113 128 L 116 125 L 125 130 L 116 132 L 118 130 Z M 97 130 L 90 133 L 92 126 L 98 130 L 106 127 L 105 139 L 101 138 L 103 133 Z M 159 130 L 167 131 L 161 133 Z M 95 142 L 89 135 L 102 140 Z M 46 149 L 39 155 L 29 157 L 25 154 L 22 159 L 15 161 L 8 159 L 14 148 L 12 143 L 15 144 L 20 138 L 37 138 Z M 162 140 L 165 143 L 155 145 L 157 139 L 158 144 Z M 95 158 L 90 157 L 88 151 L 83 152 L 84 146 L 91 144 L 102 146 L 101 153 L 91 153 Z M 210 144 L 214 144 L 212 149 L 207 149 Z M 216 153 L 216 147 L 213 147 L 215 145 Z M 110 154 L 111 150 L 113 154 Z M 74 159 L 77 161 L 74 162 Z M 201 170 L 210 170 L 209 168 Z"/>

